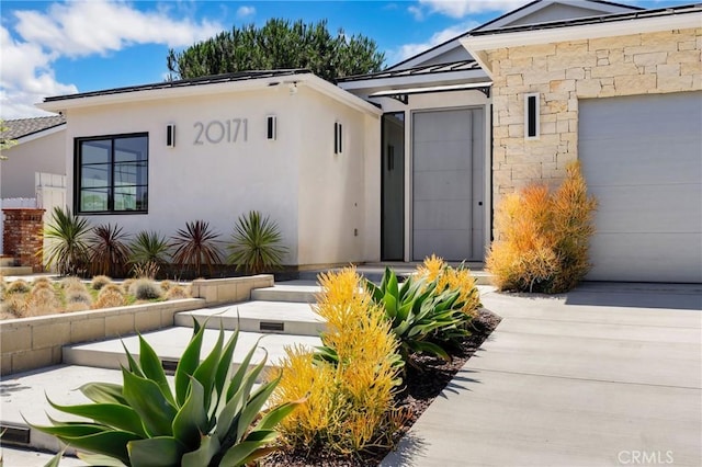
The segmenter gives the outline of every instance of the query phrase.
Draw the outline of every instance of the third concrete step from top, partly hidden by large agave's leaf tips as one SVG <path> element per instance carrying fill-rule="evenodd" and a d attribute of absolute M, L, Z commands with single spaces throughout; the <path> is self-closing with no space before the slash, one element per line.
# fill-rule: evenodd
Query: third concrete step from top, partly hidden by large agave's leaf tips
<path fill-rule="evenodd" d="M 231 335 L 233 331 L 225 331 L 225 340 Z M 147 332 L 144 339 L 154 348 L 156 354 L 161 358 L 163 366 L 168 369 L 176 369 L 176 365 L 182 355 L 185 346 L 192 338 L 192 328 L 176 327 L 160 331 Z M 214 348 L 219 332 L 214 329 L 205 330 L 201 356 L 204 358 Z M 86 344 L 67 345 L 63 349 L 63 362 L 68 365 L 92 366 L 98 368 L 118 369 L 121 365 L 126 365 L 126 356 L 123 344 L 135 357 L 139 354 L 138 337 L 112 339 L 102 342 L 91 342 Z M 259 363 L 265 355 L 263 349 L 268 351 L 267 366 L 274 368 L 284 356 L 284 348 L 293 344 L 302 344 L 308 348 L 321 345 L 318 337 L 313 335 L 286 335 L 286 334 L 264 334 L 261 332 L 240 332 L 239 341 L 234 352 L 231 367 L 238 368 L 249 350 L 257 345 L 251 364 Z"/>

